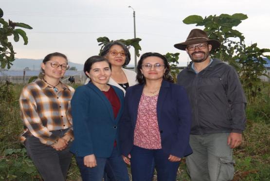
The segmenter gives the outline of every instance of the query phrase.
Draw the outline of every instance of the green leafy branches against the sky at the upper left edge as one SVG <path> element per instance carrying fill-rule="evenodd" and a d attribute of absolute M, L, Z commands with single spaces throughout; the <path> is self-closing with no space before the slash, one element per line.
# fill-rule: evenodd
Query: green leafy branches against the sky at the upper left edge
<path fill-rule="evenodd" d="M 21 36 L 24 44 L 28 43 L 28 38 L 26 33 L 22 29 L 15 29 L 16 27 L 22 27 L 26 29 L 32 29 L 31 26 L 25 23 L 12 22 L 11 20 L 5 21 L 2 19 L 3 11 L 0 9 L 0 65 L 1 68 L 7 66 L 10 69 L 12 62 L 15 60 L 15 52 L 11 42 L 9 42 L 8 37 L 14 37 L 14 41 L 18 42 L 19 37 Z"/>

